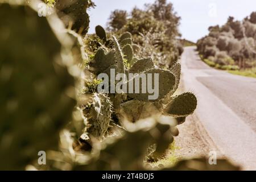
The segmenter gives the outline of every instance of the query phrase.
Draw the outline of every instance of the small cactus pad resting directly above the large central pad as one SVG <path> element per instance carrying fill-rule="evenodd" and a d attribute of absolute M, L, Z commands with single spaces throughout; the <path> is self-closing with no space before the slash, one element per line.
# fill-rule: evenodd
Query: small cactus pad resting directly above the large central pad
<path fill-rule="evenodd" d="M 151 57 L 138 60 L 133 64 L 133 67 L 129 69 L 129 73 L 142 73 L 147 69 L 154 68 L 154 61 Z"/>

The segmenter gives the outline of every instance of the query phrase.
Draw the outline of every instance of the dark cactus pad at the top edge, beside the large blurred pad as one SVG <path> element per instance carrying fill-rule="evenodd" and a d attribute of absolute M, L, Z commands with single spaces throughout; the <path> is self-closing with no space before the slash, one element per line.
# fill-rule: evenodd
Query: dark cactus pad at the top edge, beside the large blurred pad
<path fill-rule="evenodd" d="M 86 13 L 88 5 L 88 0 L 58 0 L 55 9 L 65 26 L 72 24 L 72 30 L 84 35 L 89 28 L 89 15 Z"/>

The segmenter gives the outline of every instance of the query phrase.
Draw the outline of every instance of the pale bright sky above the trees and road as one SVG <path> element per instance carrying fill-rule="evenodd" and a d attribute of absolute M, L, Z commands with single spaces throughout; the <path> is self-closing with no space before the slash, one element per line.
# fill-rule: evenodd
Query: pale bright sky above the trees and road
<path fill-rule="evenodd" d="M 129 13 L 133 7 L 143 8 L 145 3 L 155 0 L 93 0 L 97 5 L 89 10 L 90 29 L 94 33 L 94 27 L 100 24 L 106 27 L 108 18 L 115 9 L 127 10 Z M 224 24 L 229 16 L 242 20 L 256 11 L 255 0 L 167 0 L 174 5 L 177 15 L 181 16 L 179 30 L 182 38 L 196 42 L 208 34 L 208 27 L 216 24 Z"/>

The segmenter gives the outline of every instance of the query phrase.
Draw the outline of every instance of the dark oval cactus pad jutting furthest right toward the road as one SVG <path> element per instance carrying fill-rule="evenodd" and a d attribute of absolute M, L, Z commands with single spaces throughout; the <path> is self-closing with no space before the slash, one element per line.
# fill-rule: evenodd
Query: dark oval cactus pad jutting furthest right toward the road
<path fill-rule="evenodd" d="M 167 105 L 167 113 L 179 117 L 185 117 L 193 114 L 196 109 L 197 99 L 193 93 L 183 93 L 172 98 L 170 104 Z"/>

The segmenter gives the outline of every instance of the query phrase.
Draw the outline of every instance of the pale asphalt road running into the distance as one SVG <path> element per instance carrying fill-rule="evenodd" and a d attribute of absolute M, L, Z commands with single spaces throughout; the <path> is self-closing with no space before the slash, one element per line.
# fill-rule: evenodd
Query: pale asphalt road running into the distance
<path fill-rule="evenodd" d="M 196 115 L 222 154 L 256 169 L 256 79 L 210 68 L 196 47 L 181 56 L 185 89 L 196 94 Z"/>

